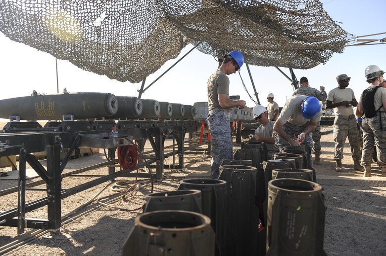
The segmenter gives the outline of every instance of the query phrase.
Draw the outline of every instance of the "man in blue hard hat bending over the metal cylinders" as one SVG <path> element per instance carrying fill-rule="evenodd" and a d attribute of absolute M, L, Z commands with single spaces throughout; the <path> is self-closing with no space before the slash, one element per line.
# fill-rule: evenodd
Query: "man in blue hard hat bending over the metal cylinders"
<path fill-rule="evenodd" d="M 300 145 L 309 146 L 311 150 L 314 145 L 311 132 L 315 130 L 321 116 L 322 106 L 318 99 L 300 94 L 292 96 L 275 122 L 275 144 L 280 150 L 285 146 Z M 312 161 L 310 164 L 312 166 Z"/>

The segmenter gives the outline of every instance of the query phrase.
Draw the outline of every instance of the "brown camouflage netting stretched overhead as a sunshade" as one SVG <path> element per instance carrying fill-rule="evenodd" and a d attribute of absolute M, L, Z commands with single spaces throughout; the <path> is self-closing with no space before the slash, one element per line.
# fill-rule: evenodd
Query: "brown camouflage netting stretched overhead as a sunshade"
<path fill-rule="evenodd" d="M 119 81 L 140 82 L 187 44 L 257 66 L 309 69 L 349 34 L 318 0 L 0 0 L 10 39 Z"/>

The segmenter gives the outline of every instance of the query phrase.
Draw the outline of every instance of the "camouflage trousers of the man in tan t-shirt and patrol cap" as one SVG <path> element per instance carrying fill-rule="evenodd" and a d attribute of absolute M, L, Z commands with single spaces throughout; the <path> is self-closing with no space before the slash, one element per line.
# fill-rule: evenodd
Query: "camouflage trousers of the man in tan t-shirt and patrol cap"
<path fill-rule="evenodd" d="M 352 159 L 361 159 L 362 137 L 356 126 L 354 115 L 351 118 L 335 116 L 333 138 L 335 142 L 334 160 L 343 158 L 343 148 L 347 138 L 351 148 Z"/>

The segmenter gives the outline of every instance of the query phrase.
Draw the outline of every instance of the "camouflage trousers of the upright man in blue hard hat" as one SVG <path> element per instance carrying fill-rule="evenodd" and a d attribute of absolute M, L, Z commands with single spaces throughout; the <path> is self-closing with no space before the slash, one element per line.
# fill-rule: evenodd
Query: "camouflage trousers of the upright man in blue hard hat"
<path fill-rule="evenodd" d="M 212 111 L 208 114 L 212 157 L 210 176 L 213 179 L 217 179 L 220 175 L 219 168 L 222 160 L 233 158 L 230 117 L 230 113 L 225 110 Z"/>

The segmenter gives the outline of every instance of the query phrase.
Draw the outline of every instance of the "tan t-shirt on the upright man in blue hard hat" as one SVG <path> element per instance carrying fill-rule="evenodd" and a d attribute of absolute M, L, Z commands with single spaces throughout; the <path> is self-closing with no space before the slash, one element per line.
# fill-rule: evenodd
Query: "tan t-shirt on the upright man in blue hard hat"
<path fill-rule="evenodd" d="M 208 90 L 208 109 L 209 112 L 215 110 L 221 110 L 220 103 L 218 102 L 219 94 L 229 95 L 229 78 L 220 69 L 216 70 L 209 79 L 207 84 Z"/>

